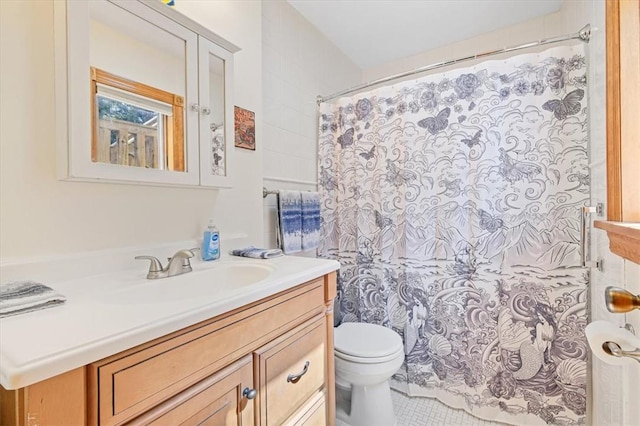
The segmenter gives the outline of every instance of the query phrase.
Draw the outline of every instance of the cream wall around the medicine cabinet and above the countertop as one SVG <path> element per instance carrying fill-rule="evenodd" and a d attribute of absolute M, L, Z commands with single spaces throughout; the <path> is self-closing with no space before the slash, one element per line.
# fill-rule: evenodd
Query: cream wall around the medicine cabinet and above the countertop
<path fill-rule="evenodd" d="M 256 113 L 262 140 L 260 2 L 181 0 L 177 9 L 240 46 L 236 105 Z M 262 144 L 237 149 L 233 190 L 56 180 L 52 0 L 0 2 L 0 255 L 146 246 L 201 237 L 208 218 L 223 237 L 262 242 Z M 82 84 L 82 83 L 78 83 Z"/>

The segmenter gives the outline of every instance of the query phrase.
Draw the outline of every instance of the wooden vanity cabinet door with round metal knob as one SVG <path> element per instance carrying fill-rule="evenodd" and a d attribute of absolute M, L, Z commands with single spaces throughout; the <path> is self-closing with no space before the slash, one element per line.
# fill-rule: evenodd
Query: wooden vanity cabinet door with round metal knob
<path fill-rule="evenodd" d="M 129 424 L 250 426 L 254 424 L 252 390 L 253 364 L 248 355 Z M 252 399 L 247 398 L 248 393 Z"/>

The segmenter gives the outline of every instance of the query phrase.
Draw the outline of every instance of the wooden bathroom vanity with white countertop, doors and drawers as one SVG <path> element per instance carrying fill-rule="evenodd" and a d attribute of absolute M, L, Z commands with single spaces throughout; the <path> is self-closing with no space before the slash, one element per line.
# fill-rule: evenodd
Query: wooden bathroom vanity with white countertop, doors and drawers
<path fill-rule="evenodd" d="M 122 299 L 106 303 L 102 312 L 96 312 L 98 304 L 92 309 L 86 291 L 77 290 L 82 279 L 55 286 L 68 295 L 65 305 L 2 319 L 0 326 L 7 333 L 0 337 L 0 423 L 333 424 L 338 264 L 290 257 L 264 262 L 201 263 L 177 280 L 143 282 L 137 277 L 104 293 L 103 301 L 114 292 Z M 236 288 L 221 283 L 216 292 L 186 300 L 150 295 L 148 305 L 139 300 L 136 306 L 127 299 L 138 297 L 136 286 L 156 285 L 162 293 L 163 286 L 206 281 L 216 267 L 241 271 L 243 265 L 265 267 L 270 273 Z M 100 281 L 115 282 L 114 277 L 96 279 Z M 91 293 L 99 296 L 104 288 L 95 284 Z M 99 316 L 91 318 L 92 311 Z M 75 326 L 68 323 L 70 318 L 76 318 Z M 37 322 L 44 330 L 30 335 Z M 107 322 L 112 324 L 101 324 Z M 56 323 L 66 324 L 65 330 L 57 340 L 47 341 Z M 25 332 L 22 343 L 20 329 Z M 153 335 L 159 337 L 143 342 Z M 38 337 L 40 345 L 29 342 Z M 123 342 L 129 347 L 116 349 Z M 140 343 L 131 344 L 135 342 Z M 108 353 L 109 347 L 114 349 L 111 354 L 94 358 Z M 61 369 L 65 371 L 46 377 Z"/>

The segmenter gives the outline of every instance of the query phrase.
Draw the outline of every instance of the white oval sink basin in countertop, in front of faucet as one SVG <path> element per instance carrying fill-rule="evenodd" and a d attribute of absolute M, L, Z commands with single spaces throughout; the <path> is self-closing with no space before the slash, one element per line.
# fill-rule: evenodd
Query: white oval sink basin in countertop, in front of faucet
<path fill-rule="evenodd" d="M 265 280 L 274 268 L 256 263 L 216 262 L 196 264 L 193 272 L 158 280 L 136 280 L 107 293 L 103 302 L 120 304 L 170 303 L 224 295 Z"/>

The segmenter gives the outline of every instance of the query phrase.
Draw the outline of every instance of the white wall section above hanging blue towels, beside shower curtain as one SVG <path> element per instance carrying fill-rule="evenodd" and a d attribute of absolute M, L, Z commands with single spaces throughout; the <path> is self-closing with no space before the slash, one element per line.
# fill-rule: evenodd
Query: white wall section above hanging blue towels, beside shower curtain
<path fill-rule="evenodd" d="M 262 8 L 264 186 L 316 189 L 316 97 L 358 84 L 360 69 L 284 0 Z M 275 203 L 264 204 L 264 244 L 275 247 Z"/>

